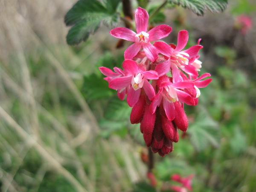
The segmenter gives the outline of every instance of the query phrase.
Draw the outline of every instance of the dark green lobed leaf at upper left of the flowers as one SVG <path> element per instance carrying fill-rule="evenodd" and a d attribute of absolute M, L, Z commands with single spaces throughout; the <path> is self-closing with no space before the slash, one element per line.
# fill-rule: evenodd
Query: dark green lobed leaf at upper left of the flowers
<path fill-rule="evenodd" d="M 99 29 L 101 23 L 114 26 L 118 22 L 116 8 L 120 0 L 79 0 L 66 14 L 65 23 L 72 26 L 67 34 L 67 43 L 75 45 L 86 41 Z M 74 25 L 74 26 L 73 26 Z"/>

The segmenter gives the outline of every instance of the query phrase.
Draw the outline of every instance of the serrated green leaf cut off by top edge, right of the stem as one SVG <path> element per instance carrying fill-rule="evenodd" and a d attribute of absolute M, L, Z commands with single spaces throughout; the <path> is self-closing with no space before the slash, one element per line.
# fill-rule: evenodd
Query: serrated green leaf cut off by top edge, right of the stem
<path fill-rule="evenodd" d="M 227 0 L 168 0 L 168 2 L 188 8 L 197 15 L 204 15 L 206 10 L 219 13 L 227 8 Z"/>

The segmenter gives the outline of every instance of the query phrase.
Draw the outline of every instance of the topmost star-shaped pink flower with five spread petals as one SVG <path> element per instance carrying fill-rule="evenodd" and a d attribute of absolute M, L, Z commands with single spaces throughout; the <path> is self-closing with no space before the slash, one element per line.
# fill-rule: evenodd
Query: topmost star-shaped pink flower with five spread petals
<path fill-rule="evenodd" d="M 167 37 L 172 31 L 168 25 L 159 25 L 148 30 L 148 12 L 138 7 L 135 12 L 135 23 L 137 33 L 125 27 L 116 27 L 110 34 L 116 38 L 135 42 L 125 50 L 125 59 L 132 59 L 143 47 L 145 55 L 150 61 L 155 61 L 158 57 L 157 49 L 149 42 Z"/>

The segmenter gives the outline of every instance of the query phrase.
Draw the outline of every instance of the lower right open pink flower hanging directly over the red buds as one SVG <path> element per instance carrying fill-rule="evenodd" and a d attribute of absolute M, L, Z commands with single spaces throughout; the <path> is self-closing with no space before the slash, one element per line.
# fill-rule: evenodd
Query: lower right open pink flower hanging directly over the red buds
<path fill-rule="evenodd" d="M 187 105 L 195 104 L 192 96 L 190 96 L 188 93 L 185 93 L 183 90 L 180 90 L 194 87 L 194 83 L 185 81 L 172 83 L 169 77 L 164 75 L 157 80 L 157 85 L 159 87 L 159 91 L 151 103 L 151 113 L 156 111 L 157 106 L 160 106 L 161 101 L 163 100 L 163 108 L 166 116 L 170 121 L 172 121 L 175 118 L 174 103 L 176 101 L 185 102 Z"/>

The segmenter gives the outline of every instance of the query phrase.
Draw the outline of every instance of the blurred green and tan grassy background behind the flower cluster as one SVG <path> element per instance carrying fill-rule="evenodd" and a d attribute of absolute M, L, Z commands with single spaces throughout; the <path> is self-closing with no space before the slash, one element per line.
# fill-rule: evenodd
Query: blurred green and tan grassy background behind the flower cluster
<path fill-rule="evenodd" d="M 128 42 L 116 49 L 102 27 L 68 46 L 64 16 L 75 3 L 0 0 L 0 192 L 155 191 L 131 108 L 98 70 L 120 67 Z M 154 155 L 158 191 L 173 174 L 193 174 L 194 192 L 256 192 L 255 1 L 203 17 L 181 7 L 164 13 L 173 28 L 166 42 L 176 44 L 182 29 L 188 46 L 202 38 L 200 74 L 212 82 L 197 106 L 185 106 L 189 128 L 174 151 Z"/>

